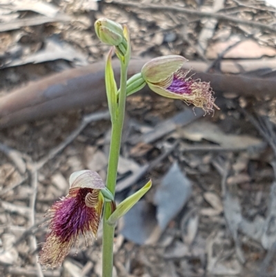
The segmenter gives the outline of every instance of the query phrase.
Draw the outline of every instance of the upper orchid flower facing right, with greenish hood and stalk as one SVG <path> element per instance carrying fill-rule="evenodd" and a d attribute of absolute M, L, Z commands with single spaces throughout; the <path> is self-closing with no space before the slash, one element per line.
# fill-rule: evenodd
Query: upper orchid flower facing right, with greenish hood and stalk
<path fill-rule="evenodd" d="M 161 96 L 181 99 L 187 104 L 202 108 L 206 113 L 214 111 L 215 104 L 213 90 L 207 82 L 188 76 L 190 70 L 182 70 L 187 59 L 179 55 L 157 57 L 148 61 L 141 73 L 128 80 L 127 94 L 131 95 L 146 84 L 152 91 Z"/>

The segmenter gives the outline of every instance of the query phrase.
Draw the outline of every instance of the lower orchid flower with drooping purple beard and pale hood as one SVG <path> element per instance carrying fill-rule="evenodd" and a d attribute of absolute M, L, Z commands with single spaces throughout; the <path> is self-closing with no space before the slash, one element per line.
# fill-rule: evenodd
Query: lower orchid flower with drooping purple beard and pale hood
<path fill-rule="evenodd" d="M 106 193 L 106 187 L 97 172 L 84 170 L 72 173 L 68 195 L 55 202 L 46 213 L 50 217 L 50 225 L 46 243 L 40 252 L 41 265 L 60 266 L 80 235 L 86 241 L 87 238 L 96 238 L 103 195 Z"/>

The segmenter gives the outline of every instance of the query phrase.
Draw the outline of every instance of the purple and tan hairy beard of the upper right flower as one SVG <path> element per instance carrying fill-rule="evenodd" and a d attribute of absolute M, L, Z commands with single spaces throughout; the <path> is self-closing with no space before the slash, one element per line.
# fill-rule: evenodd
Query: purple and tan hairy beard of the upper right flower
<path fill-rule="evenodd" d="M 210 84 L 201 82 L 200 79 L 193 79 L 193 76 L 187 77 L 188 73 L 190 70 L 178 70 L 173 75 L 172 82 L 166 90 L 179 95 L 177 98 L 187 104 L 202 108 L 205 113 L 214 112 L 214 107 L 219 109 L 215 104 L 214 92 Z"/>

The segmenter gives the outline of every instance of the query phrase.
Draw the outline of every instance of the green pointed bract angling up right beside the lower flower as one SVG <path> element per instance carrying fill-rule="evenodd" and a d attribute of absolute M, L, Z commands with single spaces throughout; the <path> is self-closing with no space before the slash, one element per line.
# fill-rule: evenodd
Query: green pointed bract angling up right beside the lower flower
<path fill-rule="evenodd" d="M 144 185 L 139 191 L 130 195 L 123 202 L 121 202 L 117 209 L 115 209 L 114 213 L 108 218 L 107 222 L 109 225 L 115 225 L 116 221 L 124 216 L 138 201 L 139 199 L 150 189 L 152 185 L 151 180 L 148 181 L 147 184 Z"/>

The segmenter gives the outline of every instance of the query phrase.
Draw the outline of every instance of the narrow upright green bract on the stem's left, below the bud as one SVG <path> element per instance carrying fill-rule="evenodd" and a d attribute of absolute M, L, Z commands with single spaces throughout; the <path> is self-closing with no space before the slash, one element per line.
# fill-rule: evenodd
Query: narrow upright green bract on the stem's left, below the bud
<path fill-rule="evenodd" d="M 115 82 L 113 68 L 111 64 L 113 48 L 108 52 L 108 57 L 106 59 L 106 95 L 108 97 L 108 108 L 110 111 L 111 121 L 116 120 L 117 115 L 117 84 Z"/>

